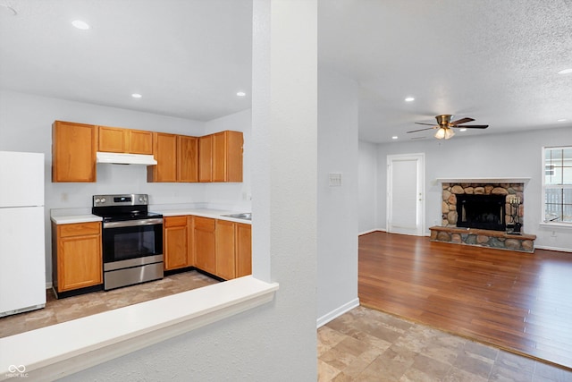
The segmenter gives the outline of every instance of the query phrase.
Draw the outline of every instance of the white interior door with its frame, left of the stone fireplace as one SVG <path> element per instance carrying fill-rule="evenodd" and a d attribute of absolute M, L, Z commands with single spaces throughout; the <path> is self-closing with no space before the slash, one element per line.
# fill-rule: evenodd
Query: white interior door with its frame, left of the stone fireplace
<path fill-rule="evenodd" d="M 387 156 L 387 232 L 425 232 L 425 154 Z"/>

